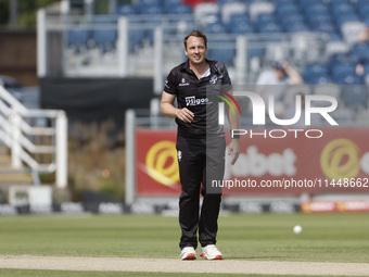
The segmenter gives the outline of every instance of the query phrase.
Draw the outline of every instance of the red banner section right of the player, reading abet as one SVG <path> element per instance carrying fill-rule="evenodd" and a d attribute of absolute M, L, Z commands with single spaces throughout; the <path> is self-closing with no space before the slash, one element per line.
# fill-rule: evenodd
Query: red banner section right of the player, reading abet
<path fill-rule="evenodd" d="M 227 163 L 225 179 L 229 186 L 224 186 L 224 192 L 247 196 L 369 192 L 367 138 L 367 128 L 249 130 L 240 138 L 239 161 L 234 166 Z"/>

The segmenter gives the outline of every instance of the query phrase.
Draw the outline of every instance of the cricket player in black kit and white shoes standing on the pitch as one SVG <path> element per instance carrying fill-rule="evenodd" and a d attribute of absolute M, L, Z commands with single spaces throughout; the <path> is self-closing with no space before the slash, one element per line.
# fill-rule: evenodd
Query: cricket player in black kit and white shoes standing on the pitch
<path fill-rule="evenodd" d="M 222 125 L 215 124 L 218 118 L 217 105 L 213 103 L 215 109 L 206 112 L 212 104 L 206 88 L 211 85 L 221 85 L 231 93 L 231 79 L 222 63 L 205 59 L 207 38 L 202 32 L 192 30 L 183 42 L 188 60 L 170 71 L 161 101 L 162 114 L 176 118 L 178 125 L 181 260 L 196 259 L 198 231 L 200 255 L 207 260 L 221 260 L 222 254 L 216 247 L 221 191 L 208 193 L 206 179 L 211 176 L 222 180 L 226 140 Z M 174 104 L 176 99 L 177 108 Z M 227 115 L 230 128 L 238 129 L 238 115 L 229 110 Z M 231 164 L 236 163 L 239 153 L 239 139 L 232 138 L 228 146 Z M 203 196 L 201 211 L 200 192 Z"/>

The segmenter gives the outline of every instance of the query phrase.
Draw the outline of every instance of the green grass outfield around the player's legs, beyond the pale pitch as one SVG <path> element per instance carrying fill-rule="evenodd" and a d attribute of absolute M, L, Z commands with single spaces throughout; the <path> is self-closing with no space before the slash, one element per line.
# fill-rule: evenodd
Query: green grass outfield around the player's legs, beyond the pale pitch
<path fill-rule="evenodd" d="M 297 224 L 303 226 L 300 235 L 292 231 Z M 179 236 L 178 218 L 160 215 L 0 217 L 1 255 L 179 259 Z M 220 216 L 217 245 L 226 259 L 232 260 L 369 263 L 369 214 Z M 0 269 L 0 276 L 102 274 Z"/>

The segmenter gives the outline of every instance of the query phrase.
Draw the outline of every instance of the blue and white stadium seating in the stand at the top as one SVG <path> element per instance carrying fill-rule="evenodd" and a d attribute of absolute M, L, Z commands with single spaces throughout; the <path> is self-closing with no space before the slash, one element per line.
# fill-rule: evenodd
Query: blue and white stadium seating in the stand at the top
<path fill-rule="evenodd" d="M 309 49 L 306 49 L 306 46 L 300 48 L 296 46 L 290 55 L 292 59 L 300 59 L 298 61 L 305 59 L 307 64 L 303 64 L 301 68 L 305 81 L 362 84 L 365 79 L 356 76 L 353 68 L 357 61 L 369 61 L 369 45 L 357 41 L 358 33 L 365 28 L 365 21 L 369 18 L 368 0 L 208 0 L 192 1 L 191 5 L 187 4 L 189 2 L 136 0 L 133 4 L 117 5 L 115 14 L 127 15 L 129 22 L 136 22 L 135 27 L 129 30 L 129 43 L 133 46 L 142 46 L 142 41 L 152 43 L 155 26 L 167 26 L 176 20 L 178 22 L 180 16 L 177 15 L 181 14 L 193 18 L 190 23 L 186 20 L 184 25 L 193 24 L 209 36 L 227 34 L 234 38 L 242 34 L 260 34 L 263 36 L 260 45 L 249 46 L 247 49 L 249 59 L 257 59 L 260 63 L 266 61 L 264 59 L 269 42 L 276 43 L 276 48 L 279 48 L 280 38 L 272 36 L 273 34 L 290 33 L 293 36 L 308 32 L 323 33 L 328 39 L 323 46 L 317 45 L 314 49 L 311 46 Z M 107 24 L 106 21 L 107 17 L 100 18 L 96 24 Z M 165 27 L 164 37 L 169 39 L 176 32 L 175 28 Z M 81 46 L 94 41 L 96 45 L 106 46 L 114 43 L 116 38 L 116 30 L 113 29 L 99 32 L 99 28 L 92 30 L 77 28 L 68 32 L 67 43 Z M 320 48 L 323 52 L 320 60 L 316 58 L 317 54 L 310 60 L 306 56 L 306 51 L 317 52 Z M 232 65 L 236 51 L 225 47 L 209 50 L 208 54 Z M 368 65 L 365 75 L 367 74 Z"/>

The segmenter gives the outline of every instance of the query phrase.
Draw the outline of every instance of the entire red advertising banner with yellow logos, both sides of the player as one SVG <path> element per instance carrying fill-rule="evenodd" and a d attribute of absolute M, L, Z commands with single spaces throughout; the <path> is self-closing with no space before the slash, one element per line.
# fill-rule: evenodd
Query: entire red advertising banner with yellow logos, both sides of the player
<path fill-rule="evenodd" d="M 240 137 L 240 158 L 225 180 L 227 196 L 301 196 L 369 192 L 369 129 L 251 129 Z M 138 129 L 137 193 L 178 197 L 176 130 Z"/>

